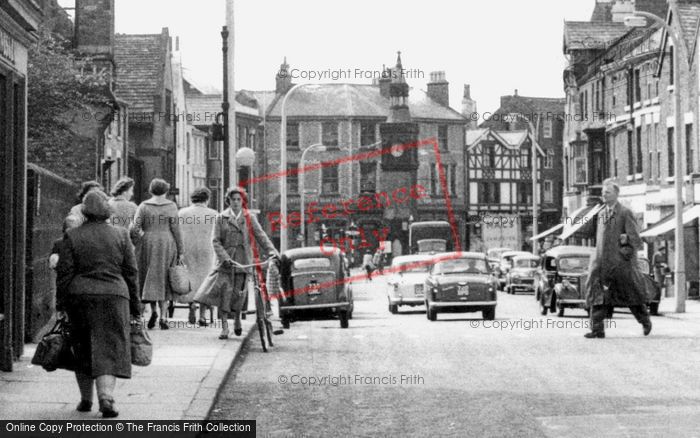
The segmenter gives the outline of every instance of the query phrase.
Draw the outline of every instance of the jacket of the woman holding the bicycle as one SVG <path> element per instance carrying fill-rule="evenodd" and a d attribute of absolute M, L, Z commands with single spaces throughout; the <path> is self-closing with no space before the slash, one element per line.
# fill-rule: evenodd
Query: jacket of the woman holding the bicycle
<path fill-rule="evenodd" d="M 248 218 L 247 221 L 246 218 Z M 253 253 L 251 246 L 251 236 L 258 244 L 255 248 L 256 254 Z M 226 260 L 249 265 L 253 263 L 254 256 L 257 256 L 257 261 L 264 261 L 269 255 L 277 254 L 277 250 L 257 218 L 245 210 L 242 211 L 238 220 L 235 219 L 230 208 L 220 213 L 214 222 L 212 243 L 217 258 L 216 270 L 219 272 L 230 272 L 229 269 L 222 267 L 222 263 Z M 247 271 L 252 272 L 250 269 Z M 240 272 L 240 270 L 235 269 L 234 272 Z"/>

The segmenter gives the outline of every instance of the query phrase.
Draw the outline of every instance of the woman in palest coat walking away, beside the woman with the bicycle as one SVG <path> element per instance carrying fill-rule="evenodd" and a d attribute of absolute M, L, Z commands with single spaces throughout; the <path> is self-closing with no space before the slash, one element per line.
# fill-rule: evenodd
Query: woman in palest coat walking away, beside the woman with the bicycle
<path fill-rule="evenodd" d="M 214 268 L 216 260 L 214 246 L 211 242 L 211 233 L 218 212 L 207 206 L 210 196 L 211 191 L 206 187 L 196 189 L 190 196 L 192 205 L 178 212 L 182 244 L 186 249 L 185 265 L 190 274 L 190 285 L 192 287 L 192 292 L 180 296 L 178 302 L 190 305 L 190 324 L 195 323 L 196 304 L 192 301 L 194 294 Z M 200 304 L 199 325 L 202 327 L 207 325 L 206 310 L 207 306 Z"/>

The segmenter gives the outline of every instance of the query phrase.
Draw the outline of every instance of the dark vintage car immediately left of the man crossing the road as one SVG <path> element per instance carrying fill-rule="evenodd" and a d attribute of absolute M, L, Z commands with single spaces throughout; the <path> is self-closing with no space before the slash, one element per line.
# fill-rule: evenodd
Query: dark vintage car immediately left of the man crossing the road
<path fill-rule="evenodd" d="M 595 248 L 587 246 L 557 246 L 542 256 L 542 274 L 536 296 L 540 312 L 557 312 L 564 316 L 564 309 L 586 309 L 586 283 L 588 265 Z"/>

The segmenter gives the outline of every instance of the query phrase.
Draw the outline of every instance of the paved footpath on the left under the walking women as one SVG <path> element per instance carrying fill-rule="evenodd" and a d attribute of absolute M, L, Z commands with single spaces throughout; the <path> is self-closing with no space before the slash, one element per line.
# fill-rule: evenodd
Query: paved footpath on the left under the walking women
<path fill-rule="evenodd" d="M 116 420 L 203 420 L 254 328 L 254 315 L 243 320 L 243 335 L 218 339 L 219 321 L 206 328 L 187 322 L 187 310 L 177 308 L 169 330 L 149 330 L 153 361 L 132 367 L 131 379 L 117 379 L 114 399 Z M 36 344 L 25 346 L 14 371 L 0 372 L 0 419 L 87 420 L 101 419 L 97 397 L 92 412 L 75 410 L 80 393 L 75 374 L 46 372 L 30 363 Z"/>

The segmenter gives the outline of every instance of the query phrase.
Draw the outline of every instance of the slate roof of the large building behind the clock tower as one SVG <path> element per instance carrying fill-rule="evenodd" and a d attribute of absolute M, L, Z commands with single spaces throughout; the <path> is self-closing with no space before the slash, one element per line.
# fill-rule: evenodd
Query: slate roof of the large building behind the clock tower
<path fill-rule="evenodd" d="M 268 117 L 280 117 L 282 99 L 268 111 Z M 466 123 L 466 118 L 452 108 L 428 97 L 424 91 L 412 90 L 408 107 L 413 119 L 445 120 Z M 288 117 L 367 117 L 389 116 L 389 99 L 379 87 L 368 84 L 321 84 L 298 88 L 289 97 L 285 111 Z"/>

